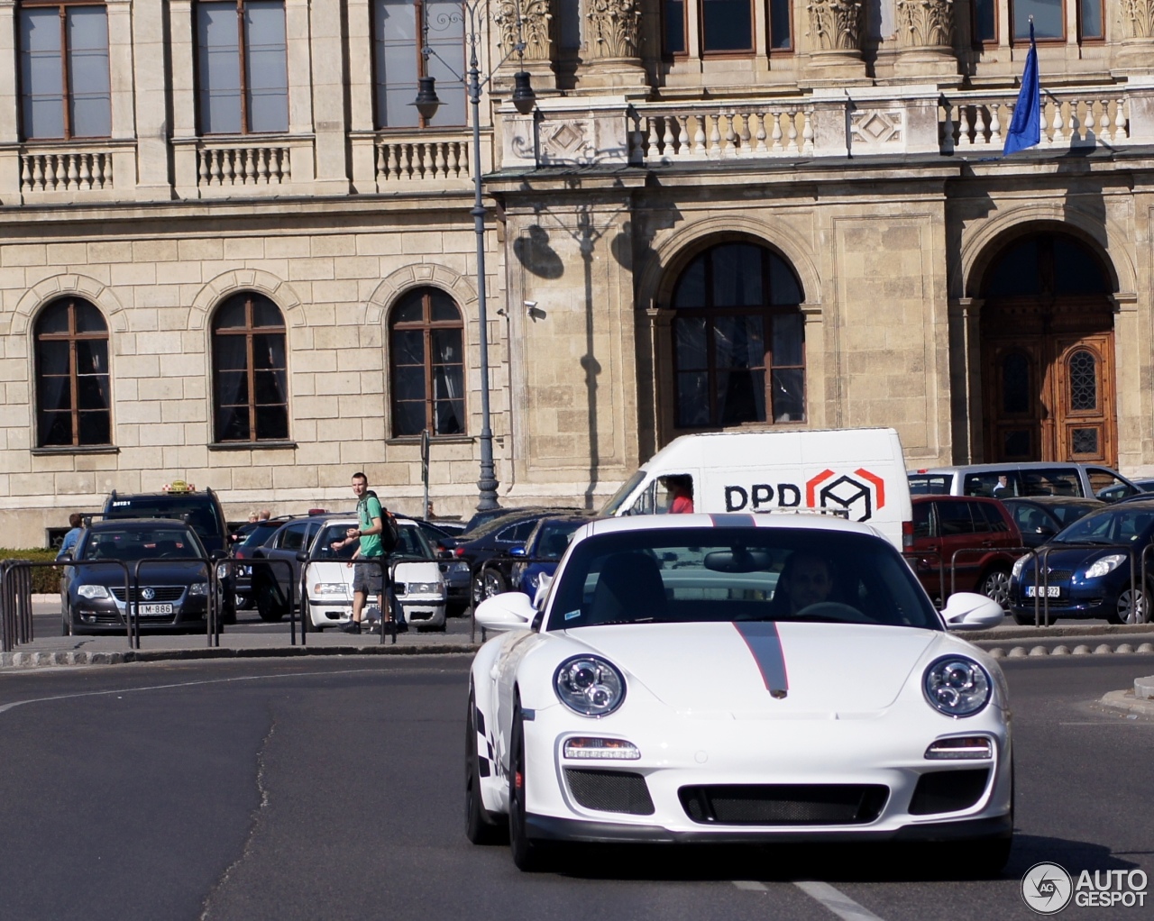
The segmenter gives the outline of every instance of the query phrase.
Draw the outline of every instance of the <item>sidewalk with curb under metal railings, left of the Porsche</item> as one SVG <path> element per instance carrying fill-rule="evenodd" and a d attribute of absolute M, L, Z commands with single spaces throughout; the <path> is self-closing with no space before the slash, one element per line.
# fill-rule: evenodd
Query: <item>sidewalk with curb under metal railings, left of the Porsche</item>
<path fill-rule="evenodd" d="M 141 634 L 141 647 L 133 650 L 123 634 L 61 636 L 59 612 L 57 596 L 35 596 L 35 639 L 16 646 L 13 652 L 0 653 L 0 669 L 271 656 L 472 654 L 481 642 L 480 628 L 477 630 L 477 643 L 470 642 L 469 617 L 450 617 L 444 632 L 418 632 L 415 628 L 410 628 L 409 632 L 397 636 L 396 644 L 388 634 L 382 643 L 376 634 L 353 635 L 329 629 L 323 632 L 310 630 L 301 645 L 298 623 L 297 643 L 293 645 L 287 619 L 280 623 L 263 623 L 254 613 L 240 612 L 239 623 L 226 627 L 220 634 L 219 647 L 209 646 L 203 632 L 148 632 L 145 628 Z"/>

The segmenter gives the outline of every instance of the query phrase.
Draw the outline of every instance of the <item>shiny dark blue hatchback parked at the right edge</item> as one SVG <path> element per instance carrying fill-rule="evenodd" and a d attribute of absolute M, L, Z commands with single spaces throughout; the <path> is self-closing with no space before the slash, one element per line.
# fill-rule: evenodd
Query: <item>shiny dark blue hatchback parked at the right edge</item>
<path fill-rule="evenodd" d="M 1154 499 L 1125 502 L 1087 515 L 1037 548 L 1044 584 L 1033 556 L 1014 563 L 1010 607 L 1018 623 L 1034 623 L 1041 598 L 1049 620 L 1104 617 L 1110 623 L 1146 623 L 1154 590 Z"/>

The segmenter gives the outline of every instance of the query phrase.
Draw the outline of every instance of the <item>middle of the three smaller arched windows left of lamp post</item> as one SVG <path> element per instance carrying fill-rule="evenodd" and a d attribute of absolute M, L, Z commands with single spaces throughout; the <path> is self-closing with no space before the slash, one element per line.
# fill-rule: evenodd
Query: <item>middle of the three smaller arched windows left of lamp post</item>
<path fill-rule="evenodd" d="M 288 437 L 285 321 L 263 294 L 233 294 L 212 319 L 212 404 L 218 442 Z"/>

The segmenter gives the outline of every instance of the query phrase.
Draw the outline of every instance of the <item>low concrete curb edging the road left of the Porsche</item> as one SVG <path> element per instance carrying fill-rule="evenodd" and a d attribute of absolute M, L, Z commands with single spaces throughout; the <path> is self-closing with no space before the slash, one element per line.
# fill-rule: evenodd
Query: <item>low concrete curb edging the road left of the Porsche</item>
<path fill-rule="evenodd" d="M 283 659 L 302 656 L 472 656 L 479 644 L 429 646 L 283 646 L 257 649 L 123 650 L 122 652 L 0 652 L 0 668 L 45 668 L 66 665 L 126 665 L 128 662 L 188 661 L 195 659 Z"/>

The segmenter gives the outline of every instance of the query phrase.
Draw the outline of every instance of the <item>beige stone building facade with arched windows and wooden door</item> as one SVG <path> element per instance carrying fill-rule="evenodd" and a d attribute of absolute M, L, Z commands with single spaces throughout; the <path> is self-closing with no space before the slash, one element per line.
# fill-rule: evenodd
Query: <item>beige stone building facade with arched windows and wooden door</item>
<path fill-rule="evenodd" d="M 173 479 L 417 510 L 421 428 L 467 515 L 474 171 L 503 504 L 740 427 L 1154 469 L 1152 63 L 1154 0 L 0 0 L 3 542 Z"/>

